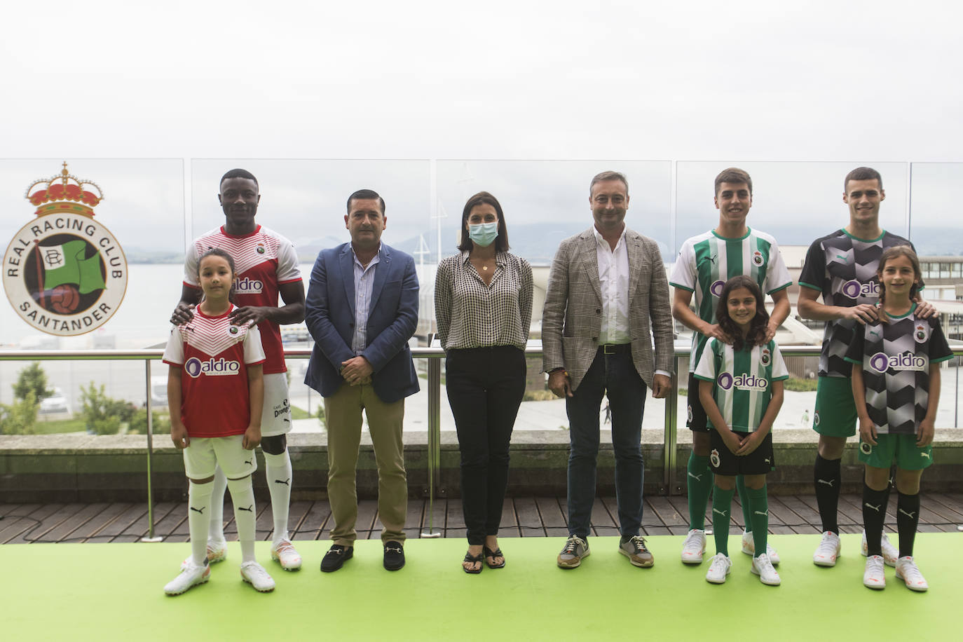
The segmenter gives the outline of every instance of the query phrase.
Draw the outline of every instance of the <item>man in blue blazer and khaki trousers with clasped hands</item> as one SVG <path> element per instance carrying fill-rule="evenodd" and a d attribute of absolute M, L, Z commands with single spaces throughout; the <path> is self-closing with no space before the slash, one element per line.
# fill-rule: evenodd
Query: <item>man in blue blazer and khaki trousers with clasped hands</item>
<path fill-rule="evenodd" d="M 404 398 L 418 392 L 408 339 L 418 323 L 418 277 L 410 255 L 381 243 L 384 200 L 372 190 L 348 198 L 351 243 L 318 254 L 304 321 L 314 352 L 304 383 L 325 398 L 327 496 L 334 544 L 321 570 L 337 571 L 354 553 L 361 410 L 377 462 L 377 512 L 383 526 L 384 568 L 404 566 Z"/>

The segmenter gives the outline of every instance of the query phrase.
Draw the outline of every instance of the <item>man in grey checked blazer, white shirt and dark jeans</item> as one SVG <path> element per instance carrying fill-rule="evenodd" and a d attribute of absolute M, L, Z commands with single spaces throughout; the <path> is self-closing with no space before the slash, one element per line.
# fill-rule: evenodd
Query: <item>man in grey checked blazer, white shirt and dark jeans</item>
<path fill-rule="evenodd" d="M 622 534 L 618 552 L 635 566 L 649 567 L 654 559 L 638 534 L 640 436 L 646 389 L 653 397 L 664 398 L 671 387 L 668 283 L 659 246 L 625 225 L 629 209 L 625 176 L 615 171 L 597 174 L 589 185 L 588 203 L 595 224 L 561 242 L 542 312 L 543 370 L 549 373 L 552 392 L 565 398 L 571 444 L 569 537 L 557 561 L 561 568 L 575 568 L 589 553 L 599 407 L 607 395 Z"/>

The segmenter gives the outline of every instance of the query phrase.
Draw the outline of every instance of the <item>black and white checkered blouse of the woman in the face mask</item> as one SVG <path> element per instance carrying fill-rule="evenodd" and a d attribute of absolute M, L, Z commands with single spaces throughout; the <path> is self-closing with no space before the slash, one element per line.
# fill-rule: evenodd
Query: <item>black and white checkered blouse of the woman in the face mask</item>
<path fill-rule="evenodd" d="M 486 286 L 468 260 L 468 250 L 442 259 L 434 279 L 434 314 L 446 350 L 525 349 L 532 324 L 532 267 L 514 254 L 498 252 Z"/>

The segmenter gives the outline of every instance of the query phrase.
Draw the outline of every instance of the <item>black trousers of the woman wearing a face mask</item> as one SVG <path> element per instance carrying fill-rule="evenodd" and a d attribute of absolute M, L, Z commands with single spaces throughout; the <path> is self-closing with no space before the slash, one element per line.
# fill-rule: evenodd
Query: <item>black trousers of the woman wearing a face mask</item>
<path fill-rule="evenodd" d="M 469 544 L 497 535 L 508 486 L 508 443 L 525 393 L 525 352 L 448 350 L 445 388 L 461 450 L 461 506 Z"/>

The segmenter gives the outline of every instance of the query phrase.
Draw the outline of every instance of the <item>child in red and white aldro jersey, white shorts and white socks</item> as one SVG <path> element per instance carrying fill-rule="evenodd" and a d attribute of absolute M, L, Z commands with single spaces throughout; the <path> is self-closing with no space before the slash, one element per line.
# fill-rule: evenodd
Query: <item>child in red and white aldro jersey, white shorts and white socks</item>
<path fill-rule="evenodd" d="M 164 587 L 179 595 L 211 577 L 207 530 L 214 470 L 221 466 L 234 503 L 241 540 L 241 578 L 261 592 L 274 580 L 254 558 L 254 491 L 250 474 L 257 469 L 251 451 L 261 441 L 264 402 L 264 349 L 256 327 L 233 325 L 230 294 L 234 262 L 222 249 L 209 249 L 197 262 L 204 293 L 194 319 L 175 327 L 164 351 L 169 364 L 170 439 L 184 450 L 190 481 L 188 526 L 191 556 L 181 573 Z"/>

